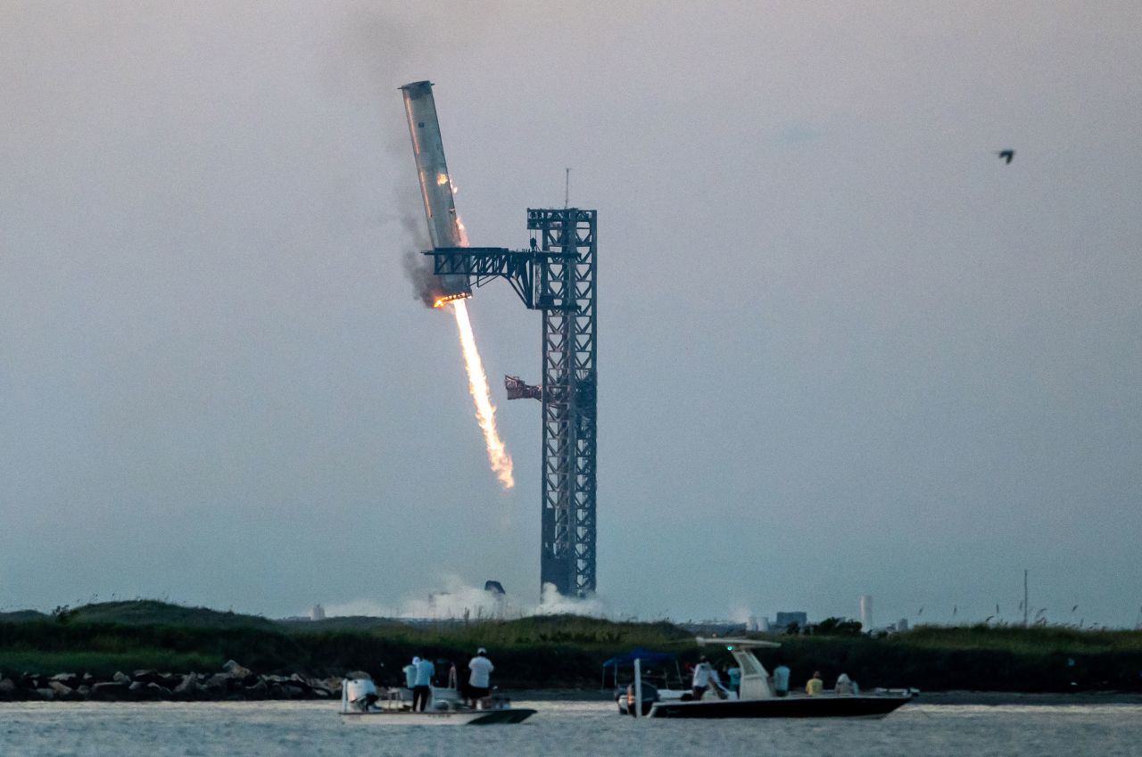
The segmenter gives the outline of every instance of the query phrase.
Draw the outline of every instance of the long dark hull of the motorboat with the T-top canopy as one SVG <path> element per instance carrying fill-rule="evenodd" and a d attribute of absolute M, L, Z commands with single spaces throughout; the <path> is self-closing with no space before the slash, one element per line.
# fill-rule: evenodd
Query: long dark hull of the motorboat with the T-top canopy
<path fill-rule="evenodd" d="M 911 701 L 911 695 L 821 695 L 754 700 L 658 702 L 650 717 L 765 718 L 868 717 L 879 718 Z"/>

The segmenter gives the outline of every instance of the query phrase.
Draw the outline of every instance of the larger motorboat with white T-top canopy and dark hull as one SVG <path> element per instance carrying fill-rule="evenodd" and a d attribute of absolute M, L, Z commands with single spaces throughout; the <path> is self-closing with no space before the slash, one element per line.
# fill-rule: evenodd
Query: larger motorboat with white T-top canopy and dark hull
<path fill-rule="evenodd" d="M 632 715 L 670 718 L 766 718 L 766 717 L 866 717 L 880 718 L 911 701 L 911 688 L 874 691 L 866 694 L 826 692 L 802 694 L 790 692 L 778 696 L 770 685 L 770 675 L 754 655 L 759 647 L 781 646 L 774 642 L 751 638 L 699 637 L 699 644 L 723 644 L 741 669 L 741 684 L 737 696 L 691 701 L 660 701 L 656 692 L 644 691 L 636 663 L 635 683 L 632 685 L 628 707 Z M 642 702 L 642 707 L 634 707 Z"/>

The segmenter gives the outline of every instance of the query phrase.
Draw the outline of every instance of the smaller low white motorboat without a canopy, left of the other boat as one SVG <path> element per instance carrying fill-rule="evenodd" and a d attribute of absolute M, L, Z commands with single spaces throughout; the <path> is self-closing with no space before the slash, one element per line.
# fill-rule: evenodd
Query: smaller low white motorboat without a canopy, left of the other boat
<path fill-rule="evenodd" d="M 437 690 L 423 712 L 411 709 L 399 688 L 377 691 L 369 678 L 346 678 L 341 682 L 341 722 L 372 725 L 499 725 L 522 723 L 536 714 L 526 708 L 513 708 L 505 696 L 488 696 L 478 707 L 464 706 L 456 690 Z"/>

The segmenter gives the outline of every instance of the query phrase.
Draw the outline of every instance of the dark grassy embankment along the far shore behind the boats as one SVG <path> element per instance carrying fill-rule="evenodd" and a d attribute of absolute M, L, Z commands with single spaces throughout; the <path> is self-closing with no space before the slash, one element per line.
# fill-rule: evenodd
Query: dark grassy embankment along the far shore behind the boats
<path fill-rule="evenodd" d="M 1142 633 L 1067 628 L 920 627 L 888 638 L 774 636 L 794 683 L 820 670 L 844 671 L 864 686 L 924 690 L 1057 692 L 1142 691 Z M 597 687 L 601 663 L 634 646 L 671 651 L 685 661 L 700 650 L 665 622 L 554 617 L 413 627 L 379 619 L 321 622 L 179 607 L 156 602 L 104 603 L 71 611 L 64 622 L 0 615 L 0 671 L 82 673 L 152 668 L 199 673 L 234 659 L 257 673 L 340 675 L 363 669 L 395 681 L 413 654 L 463 663 L 486 646 L 505 687 Z M 707 647 L 715 661 L 730 657 Z"/>

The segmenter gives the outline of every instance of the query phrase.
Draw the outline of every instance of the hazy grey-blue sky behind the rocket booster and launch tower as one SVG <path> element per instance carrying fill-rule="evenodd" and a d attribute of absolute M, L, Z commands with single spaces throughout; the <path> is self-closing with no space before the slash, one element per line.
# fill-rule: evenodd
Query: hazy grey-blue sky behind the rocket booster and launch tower
<path fill-rule="evenodd" d="M 0 605 L 538 598 L 538 403 L 505 493 L 402 274 L 432 79 L 473 243 L 568 166 L 600 211 L 609 612 L 1014 619 L 1027 567 L 1133 626 L 1142 8 L 1004 5 L 0 3 Z"/>

